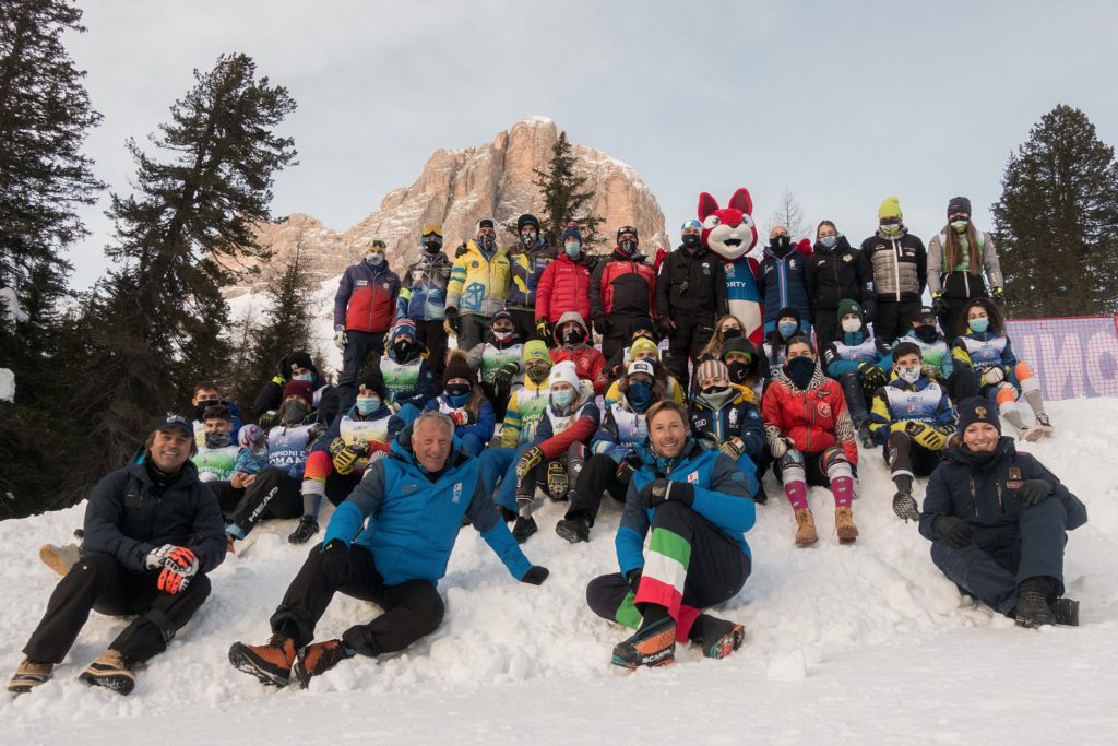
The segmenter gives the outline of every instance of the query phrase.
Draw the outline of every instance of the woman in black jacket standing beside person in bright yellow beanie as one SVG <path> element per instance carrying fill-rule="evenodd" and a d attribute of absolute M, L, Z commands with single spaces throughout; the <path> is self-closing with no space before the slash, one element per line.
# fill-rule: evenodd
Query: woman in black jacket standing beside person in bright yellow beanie
<path fill-rule="evenodd" d="M 804 284 L 812 304 L 816 349 L 825 350 L 839 339 L 836 319 L 839 301 L 843 299 L 861 303 L 866 322 L 873 323 L 877 301 L 873 293 L 865 291 L 871 277 L 862 274 L 865 265 L 859 261 L 859 249 L 850 245 L 831 220 L 821 221 L 815 229 L 815 254 L 805 265 Z"/>

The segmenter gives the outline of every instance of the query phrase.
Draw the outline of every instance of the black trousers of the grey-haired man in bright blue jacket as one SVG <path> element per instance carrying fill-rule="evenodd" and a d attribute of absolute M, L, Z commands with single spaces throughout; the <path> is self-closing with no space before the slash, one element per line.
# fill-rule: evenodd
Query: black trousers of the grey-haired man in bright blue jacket
<path fill-rule="evenodd" d="M 273 632 L 291 636 L 295 648 L 310 643 L 314 640 L 315 625 L 339 591 L 383 610 L 368 624 L 356 624 L 342 634 L 342 641 L 362 655 L 404 650 L 443 623 L 445 606 L 433 583 L 407 580 L 386 585 L 371 551 L 350 545 L 349 553 L 349 575 L 341 585 L 334 585 L 322 570 L 322 545 L 311 549 L 272 615 Z"/>

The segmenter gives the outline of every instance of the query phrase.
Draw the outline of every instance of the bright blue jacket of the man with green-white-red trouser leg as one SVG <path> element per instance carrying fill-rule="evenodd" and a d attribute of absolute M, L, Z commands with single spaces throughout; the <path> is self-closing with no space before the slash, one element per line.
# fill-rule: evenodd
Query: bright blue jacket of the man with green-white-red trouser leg
<path fill-rule="evenodd" d="M 653 456 L 646 444 L 639 445 L 637 453 L 644 463 L 629 481 L 614 539 L 622 575 L 644 567 L 644 539 L 652 527 L 653 511 L 641 504 L 641 490 L 655 479 L 690 483 L 695 495 L 691 509 L 733 539 L 741 554 L 752 557 L 746 531 L 754 527 L 757 506 L 750 498 L 746 475 L 732 459 L 718 451 L 705 451 L 691 440 L 674 464 Z"/>

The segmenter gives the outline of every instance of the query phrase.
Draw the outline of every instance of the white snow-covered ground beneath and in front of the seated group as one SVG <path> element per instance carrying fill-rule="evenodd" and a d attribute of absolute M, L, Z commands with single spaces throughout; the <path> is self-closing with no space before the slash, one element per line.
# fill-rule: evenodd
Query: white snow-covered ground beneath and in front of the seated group
<path fill-rule="evenodd" d="M 1020 630 L 960 599 L 915 526 L 893 517 L 880 453 L 863 452 L 855 546 L 839 546 L 830 494 L 813 489 L 821 540 L 794 548 L 790 509 L 769 483 L 749 535 L 754 576 L 719 610 L 748 627 L 728 660 L 682 650 L 667 669 L 609 665 L 626 633 L 594 616 L 584 592 L 616 567 L 618 509 L 605 508 L 589 545 L 571 546 L 553 532 L 561 506 L 552 504 L 524 546 L 551 569 L 543 586 L 512 580 L 465 529 L 434 635 L 391 659 L 354 659 L 306 691 L 267 689 L 226 653 L 236 640 L 267 639 L 268 615 L 305 556 L 285 540 L 294 522 L 281 521 L 212 574 L 212 596 L 139 672 L 131 697 L 76 681 L 124 625 L 94 614 L 53 682 L 0 698 L 0 743 L 1115 743 L 1118 399 L 1060 402 L 1051 413 L 1057 435 L 1029 450 L 1090 511 L 1067 553 L 1078 629 Z M 80 522 L 82 507 L 0 522 L 4 679 L 55 582 L 38 547 L 67 540 Z M 320 638 L 375 613 L 339 596 Z"/>

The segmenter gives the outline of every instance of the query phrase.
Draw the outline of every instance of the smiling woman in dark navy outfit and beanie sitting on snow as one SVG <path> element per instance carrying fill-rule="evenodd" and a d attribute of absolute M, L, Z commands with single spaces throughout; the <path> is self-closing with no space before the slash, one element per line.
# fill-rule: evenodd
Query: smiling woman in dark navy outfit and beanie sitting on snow
<path fill-rule="evenodd" d="M 1079 603 L 1061 597 L 1063 549 L 1087 508 L 1001 428 L 989 399 L 959 404 L 961 436 L 928 482 L 920 533 L 944 575 L 1018 625 L 1078 624 Z"/>

